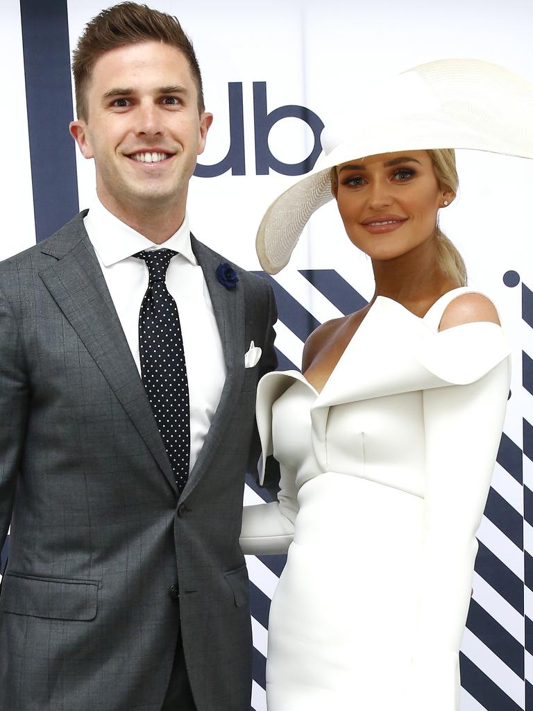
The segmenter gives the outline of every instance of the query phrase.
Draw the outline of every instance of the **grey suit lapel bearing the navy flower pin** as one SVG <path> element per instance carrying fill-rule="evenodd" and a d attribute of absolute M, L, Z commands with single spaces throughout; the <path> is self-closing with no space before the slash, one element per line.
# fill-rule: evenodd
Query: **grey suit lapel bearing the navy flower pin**
<path fill-rule="evenodd" d="M 206 247 L 190 235 L 193 252 L 202 267 L 205 282 L 211 297 L 215 319 L 227 367 L 227 375 L 220 395 L 217 411 L 212 419 L 207 437 L 190 472 L 183 495 L 187 495 L 198 483 L 200 476 L 210 464 L 212 454 L 220 442 L 232 412 L 237 407 L 239 392 L 244 378 L 244 289 L 238 284 L 235 289 L 227 289 L 217 279 L 218 265 L 225 261 L 220 255 Z"/>

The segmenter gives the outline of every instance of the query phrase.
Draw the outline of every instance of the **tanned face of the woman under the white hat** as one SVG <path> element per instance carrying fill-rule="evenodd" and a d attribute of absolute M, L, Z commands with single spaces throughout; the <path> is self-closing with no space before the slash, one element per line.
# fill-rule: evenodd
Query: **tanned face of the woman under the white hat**
<path fill-rule="evenodd" d="M 433 239 L 437 210 L 453 199 L 438 185 L 427 151 L 367 156 L 341 164 L 337 176 L 345 230 L 372 260 L 399 257 Z"/>

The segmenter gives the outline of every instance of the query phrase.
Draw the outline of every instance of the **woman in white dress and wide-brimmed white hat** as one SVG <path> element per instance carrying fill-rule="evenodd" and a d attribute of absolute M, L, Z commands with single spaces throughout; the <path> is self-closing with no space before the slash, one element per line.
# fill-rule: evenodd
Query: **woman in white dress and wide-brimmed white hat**
<path fill-rule="evenodd" d="M 386 139 L 397 149 L 372 151 L 384 144 L 384 122 L 336 137 L 322 166 L 284 193 L 259 229 L 260 259 L 275 273 L 330 191 L 375 275 L 370 304 L 308 338 L 303 375 L 269 373 L 259 383 L 263 455 L 279 461 L 281 491 L 276 503 L 245 508 L 241 542 L 244 552 L 288 549 L 269 621 L 269 711 L 458 708 L 475 531 L 510 351 L 495 306 L 465 287 L 463 260 L 438 228 L 457 174 L 453 150 L 429 147 L 473 140 L 483 91 L 493 96 L 487 76 L 476 80 L 490 85 L 477 108 L 468 89 L 455 134 L 449 114 L 441 122 L 465 76 L 488 67 L 508 101 L 516 77 L 468 60 L 446 73 L 443 64 L 413 70 L 432 100 L 441 92 L 430 129 L 422 97 L 423 124 L 413 114 L 403 135 Z M 492 128 L 476 147 L 517 152 Z M 533 156 L 532 147 L 518 152 Z"/>

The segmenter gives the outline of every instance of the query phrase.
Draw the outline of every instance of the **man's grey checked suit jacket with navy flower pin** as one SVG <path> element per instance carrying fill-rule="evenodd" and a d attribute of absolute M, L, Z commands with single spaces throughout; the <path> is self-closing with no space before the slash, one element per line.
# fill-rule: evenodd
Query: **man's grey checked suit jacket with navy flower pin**
<path fill-rule="evenodd" d="M 84 215 L 0 264 L 0 711 L 160 711 L 180 629 L 198 711 L 248 711 L 238 540 L 274 297 L 238 267 L 223 287 L 193 238 L 227 379 L 178 500 Z"/>

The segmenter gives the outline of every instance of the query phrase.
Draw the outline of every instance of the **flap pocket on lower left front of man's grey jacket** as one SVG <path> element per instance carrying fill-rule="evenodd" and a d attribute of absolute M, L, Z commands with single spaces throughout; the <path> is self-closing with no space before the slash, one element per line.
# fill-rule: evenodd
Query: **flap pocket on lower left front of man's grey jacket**
<path fill-rule="evenodd" d="M 61 620 L 96 617 L 98 582 L 9 572 L 2 580 L 0 611 Z"/>

